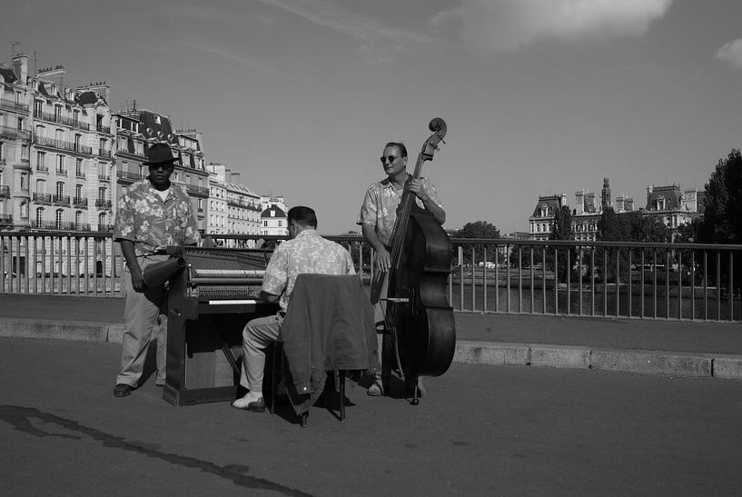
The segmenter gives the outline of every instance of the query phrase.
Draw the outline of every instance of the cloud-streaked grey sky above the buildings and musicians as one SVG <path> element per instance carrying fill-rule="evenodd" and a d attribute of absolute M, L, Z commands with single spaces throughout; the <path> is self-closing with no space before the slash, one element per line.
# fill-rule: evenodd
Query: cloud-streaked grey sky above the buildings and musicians
<path fill-rule="evenodd" d="M 648 185 L 703 189 L 742 147 L 739 0 L 28 0 L 0 17 L 0 61 L 64 65 L 203 133 L 207 163 L 258 194 L 358 230 L 383 145 L 422 175 L 446 228 L 528 231 L 539 195 L 644 206 Z"/>

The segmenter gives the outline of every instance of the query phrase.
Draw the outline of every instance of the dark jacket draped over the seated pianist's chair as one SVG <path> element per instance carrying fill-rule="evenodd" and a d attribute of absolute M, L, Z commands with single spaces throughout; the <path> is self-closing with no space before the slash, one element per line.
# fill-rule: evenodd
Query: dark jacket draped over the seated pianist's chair
<path fill-rule="evenodd" d="M 294 411 L 309 410 L 328 371 L 377 369 L 373 309 L 356 274 L 300 274 L 281 326 L 284 383 Z"/>

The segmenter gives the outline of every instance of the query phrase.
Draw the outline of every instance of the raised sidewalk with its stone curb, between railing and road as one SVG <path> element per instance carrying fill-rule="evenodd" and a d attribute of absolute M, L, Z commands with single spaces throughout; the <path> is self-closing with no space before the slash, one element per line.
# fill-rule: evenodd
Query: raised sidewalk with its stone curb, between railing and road
<path fill-rule="evenodd" d="M 0 297 L 0 337 L 121 343 L 124 301 Z M 742 380 L 740 323 L 455 313 L 454 363 Z"/>

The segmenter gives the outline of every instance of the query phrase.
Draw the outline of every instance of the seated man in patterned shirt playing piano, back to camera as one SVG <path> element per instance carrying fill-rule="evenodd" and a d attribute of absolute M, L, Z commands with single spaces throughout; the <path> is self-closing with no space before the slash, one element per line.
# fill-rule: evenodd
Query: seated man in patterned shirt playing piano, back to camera
<path fill-rule="evenodd" d="M 265 268 L 260 293 L 260 298 L 265 301 L 278 301 L 281 310 L 273 316 L 253 319 L 242 331 L 240 384 L 248 393 L 232 403 L 236 409 L 253 413 L 265 411 L 262 397 L 265 349 L 278 339 L 296 277 L 301 273 L 355 273 L 351 253 L 340 244 L 322 238 L 316 229 L 317 216 L 311 208 L 295 206 L 289 210 L 287 230 L 290 239 L 273 251 Z"/>

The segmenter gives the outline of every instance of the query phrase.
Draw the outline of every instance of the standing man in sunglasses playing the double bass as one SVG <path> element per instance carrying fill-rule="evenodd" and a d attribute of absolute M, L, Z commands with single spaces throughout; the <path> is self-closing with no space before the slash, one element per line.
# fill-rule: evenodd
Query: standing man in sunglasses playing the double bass
<path fill-rule="evenodd" d="M 387 177 L 380 182 L 371 184 L 366 190 L 366 196 L 361 205 L 358 224 L 361 224 L 361 233 L 375 251 L 376 268 L 380 277 L 374 278 L 371 286 L 371 303 L 374 306 L 374 319 L 377 323 L 379 350 L 382 350 L 381 337 L 385 330 L 389 273 L 392 265 L 392 235 L 397 224 L 397 214 L 405 190 L 415 195 L 418 207 L 432 214 L 437 224 L 446 220 L 446 212 L 438 199 L 435 187 L 427 178 L 414 178 L 407 172 L 407 148 L 399 142 L 390 142 L 384 146 L 380 157 L 381 167 Z M 382 353 L 379 354 L 380 361 Z M 385 394 L 389 387 L 389 372 L 391 364 L 380 364 L 376 377 L 371 383 L 368 394 L 379 396 Z M 383 375 L 383 376 L 382 376 Z M 417 379 L 415 379 L 417 380 Z M 418 392 L 424 395 L 422 384 L 416 381 Z M 413 392 L 415 383 L 408 377 L 405 387 L 408 394 Z"/>

